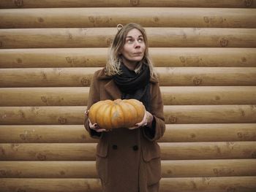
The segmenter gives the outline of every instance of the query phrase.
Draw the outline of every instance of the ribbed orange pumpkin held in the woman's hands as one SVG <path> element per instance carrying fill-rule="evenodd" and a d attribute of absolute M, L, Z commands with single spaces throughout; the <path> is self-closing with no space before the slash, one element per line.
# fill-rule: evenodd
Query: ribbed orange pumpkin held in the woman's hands
<path fill-rule="evenodd" d="M 145 107 L 137 99 L 98 101 L 91 105 L 89 119 L 100 128 L 129 128 L 143 120 Z"/>

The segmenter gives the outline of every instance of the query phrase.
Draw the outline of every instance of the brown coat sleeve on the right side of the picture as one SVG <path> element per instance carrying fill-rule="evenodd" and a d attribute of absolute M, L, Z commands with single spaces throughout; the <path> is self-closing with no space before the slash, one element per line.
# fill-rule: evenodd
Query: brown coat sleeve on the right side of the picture
<path fill-rule="evenodd" d="M 143 135 L 150 141 L 156 141 L 165 133 L 165 115 L 159 83 L 152 85 L 151 114 L 154 117 L 152 127 L 143 127 Z"/>

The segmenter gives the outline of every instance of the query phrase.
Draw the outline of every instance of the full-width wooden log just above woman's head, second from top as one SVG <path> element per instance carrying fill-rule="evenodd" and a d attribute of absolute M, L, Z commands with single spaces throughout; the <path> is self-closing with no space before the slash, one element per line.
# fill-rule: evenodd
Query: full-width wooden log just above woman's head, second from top
<path fill-rule="evenodd" d="M 256 28 L 254 9 L 162 7 L 2 9 L 1 28 L 144 27 Z"/>

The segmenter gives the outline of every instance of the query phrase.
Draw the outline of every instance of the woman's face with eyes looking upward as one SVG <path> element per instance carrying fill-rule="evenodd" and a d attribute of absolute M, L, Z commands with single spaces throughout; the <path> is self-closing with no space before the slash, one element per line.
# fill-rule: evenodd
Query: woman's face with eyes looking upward
<path fill-rule="evenodd" d="M 145 48 L 143 35 L 137 28 L 133 28 L 128 32 L 124 47 L 121 50 L 124 64 L 135 69 L 135 64 L 138 64 L 138 61 L 143 59 Z"/>

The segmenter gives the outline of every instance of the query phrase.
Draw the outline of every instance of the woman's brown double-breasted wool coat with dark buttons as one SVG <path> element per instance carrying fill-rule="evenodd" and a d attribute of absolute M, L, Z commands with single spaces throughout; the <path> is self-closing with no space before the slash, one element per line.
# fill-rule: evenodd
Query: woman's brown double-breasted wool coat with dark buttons
<path fill-rule="evenodd" d="M 162 96 L 157 78 L 151 77 L 151 114 L 155 131 L 147 127 L 113 129 L 97 133 L 86 130 L 91 137 L 99 138 L 97 145 L 97 172 L 105 192 L 156 192 L 161 178 L 160 149 L 157 139 L 165 132 Z M 95 72 L 89 92 L 88 109 L 99 100 L 120 99 L 121 92 L 104 69 Z"/>

